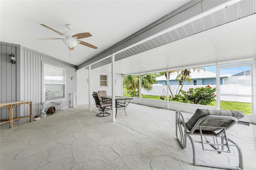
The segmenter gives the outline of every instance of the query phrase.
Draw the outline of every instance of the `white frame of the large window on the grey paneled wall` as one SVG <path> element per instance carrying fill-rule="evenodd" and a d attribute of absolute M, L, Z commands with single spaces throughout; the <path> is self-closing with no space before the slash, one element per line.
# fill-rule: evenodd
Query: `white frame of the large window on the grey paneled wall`
<path fill-rule="evenodd" d="M 63 70 L 64 71 L 64 83 L 46 83 L 46 79 L 45 79 L 45 73 L 46 73 L 46 69 L 47 67 L 51 67 L 51 68 L 55 68 L 55 69 L 60 69 L 60 70 Z M 47 100 L 46 101 L 46 84 L 62 84 L 64 85 L 64 97 L 60 97 L 60 98 L 57 98 L 57 99 L 52 99 L 52 100 Z M 66 69 L 64 67 L 57 67 L 56 65 L 51 65 L 50 63 L 43 63 L 42 62 L 42 102 L 53 102 L 53 101 L 60 101 L 60 100 L 64 100 L 66 99 Z"/>

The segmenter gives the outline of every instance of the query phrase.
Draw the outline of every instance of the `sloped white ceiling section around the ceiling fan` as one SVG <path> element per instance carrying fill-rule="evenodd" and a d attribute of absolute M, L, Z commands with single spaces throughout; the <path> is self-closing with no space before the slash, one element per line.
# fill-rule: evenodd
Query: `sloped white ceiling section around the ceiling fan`
<path fill-rule="evenodd" d="M 0 41 L 19 44 L 51 57 L 79 65 L 104 49 L 144 28 L 189 0 L 6 0 L 0 1 Z M 62 40 L 37 38 L 63 38 L 39 24 L 60 32 L 90 32 L 84 38 L 98 47 L 92 49 L 76 45 L 70 51 Z"/>

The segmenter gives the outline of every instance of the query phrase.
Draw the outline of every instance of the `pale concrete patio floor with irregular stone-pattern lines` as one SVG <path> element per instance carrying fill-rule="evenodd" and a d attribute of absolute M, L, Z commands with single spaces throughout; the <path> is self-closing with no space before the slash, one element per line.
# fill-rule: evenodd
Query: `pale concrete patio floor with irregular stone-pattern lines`
<path fill-rule="evenodd" d="M 1 170 L 212 170 L 194 166 L 188 140 L 182 149 L 175 136 L 175 111 L 130 103 L 112 115 L 97 117 L 92 105 L 79 105 L 39 121 L 0 128 Z M 109 111 L 111 112 L 111 111 Z M 192 113 L 184 113 L 187 118 Z M 256 125 L 235 125 L 229 138 L 240 144 L 244 169 L 256 169 Z M 202 161 L 238 166 L 238 154 L 202 151 Z"/>

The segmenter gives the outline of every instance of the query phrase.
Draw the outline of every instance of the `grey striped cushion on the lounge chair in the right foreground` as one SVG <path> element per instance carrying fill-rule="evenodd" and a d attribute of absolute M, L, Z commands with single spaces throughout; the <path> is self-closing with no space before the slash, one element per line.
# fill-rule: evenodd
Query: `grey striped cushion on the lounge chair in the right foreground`
<path fill-rule="evenodd" d="M 236 117 L 236 119 L 242 119 L 244 114 L 242 111 L 230 111 L 230 110 L 213 110 L 213 109 L 196 109 L 194 115 L 187 121 L 186 125 L 189 130 L 191 130 L 198 119 L 202 116 L 206 115 L 221 115 L 221 116 L 232 116 Z M 220 120 L 220 119 L 211 119 L 211 120 L 204 120 L 200 123 L 200 125 L 208 125 L 208 126 L 227 126 L 230 123 L 230 120 Z M 199 128 L 196 128 L 198 130 Z M 220 128 L 206 128 L 202 130 L 220 130 Z"/>

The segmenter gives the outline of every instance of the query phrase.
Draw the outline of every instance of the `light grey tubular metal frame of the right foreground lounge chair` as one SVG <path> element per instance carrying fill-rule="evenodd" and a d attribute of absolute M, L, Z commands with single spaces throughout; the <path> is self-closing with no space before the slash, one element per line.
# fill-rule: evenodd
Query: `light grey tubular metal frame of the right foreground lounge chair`
<path fill-rule="evenodd" d="M 221 126 L 207 126 L 207 125 L 200 125 L 205 120 L 212 120 L 212 119 L 219 119 L 219 120 L 230 120 L 230 123 L 227 126 L 221 127 Z M 180 142 L 182 148 L 187 147 L 187 138 L 189 138 L 191 144 L 192 144 L 192 150 L 193 150 L 193 164 L 196 166 L 207 166 L 212 168 L 222 168 L 222 169 L 236 169 L 236 170 L 243 170 L 243 154 L 242 149 L 240 146 L 234 142 L 233 140 L 228 138 L 228 135 L 226 131 L 230 129 L 232 126 L 234 126 L 238 122 L 238 119 L 236 117 L 232 116 L 222 116 L 222 115 L 206 115 L 200 117 L 197 122 L 195 123 L 194 127 L 191 130 L 187 129 L 186 121 L 181 114 L 180 111 L 176 111 L 176 138 Z M 221 129 L 218 132 L 215 131 L 208 131 L 210 128 L 218 128 Z M 196 130 L 199 129 L 199 130 Z M 196 141 L 193 140 L 192 135 L 200 135 L 201 140 Z M 213 140 L 210 141 L 206 136 L 212 136 Z M 204 138 L 206 139 L 206 142 L 204 142 Z M 221 143 L 218 143 L 218 138 L 221 138 Z M 230 153 L 230 146 L 235 146 L 238 150 L 238 166 L 229 166 L 229 165 L 219 165 L 219 164 L 211 164 L 207 162 L 198 162 L 198 159 L 196 157 L 196 146 L 195 143 L 202 144 L 202 150 L 208 150 L 208 151 L 216 151 L 216 152 L 227 152 Z M 210 145 L 214 149 L 207 149 L 205 148 L 205 145 Z M 219 148 L 221 146 L 221 148 Z M 227 150 L 225 150 L 225 146 Z"/>

